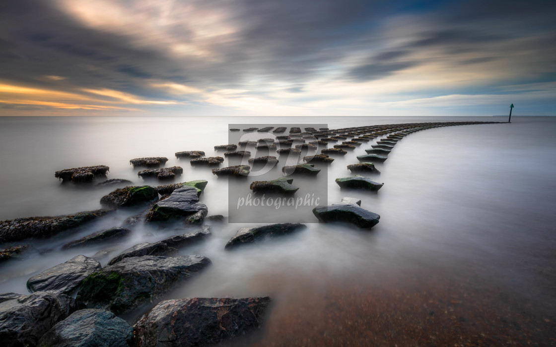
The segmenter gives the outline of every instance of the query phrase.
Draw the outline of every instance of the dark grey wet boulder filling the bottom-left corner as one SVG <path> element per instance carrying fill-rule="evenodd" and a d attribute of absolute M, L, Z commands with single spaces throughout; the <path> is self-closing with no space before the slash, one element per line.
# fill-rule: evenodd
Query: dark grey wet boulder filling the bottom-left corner
<path fill-rule="evenodd" d="M 14 296 L 13 293 L 9 293 Z M 17 294 L 16 294 L 17 295 Z M 65 294 L 38 291 L 0 305 L 2 347 L 35 346 L 48 330 L 85 306 Z"/>

